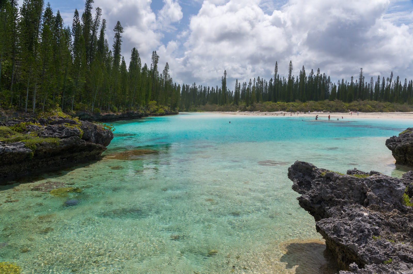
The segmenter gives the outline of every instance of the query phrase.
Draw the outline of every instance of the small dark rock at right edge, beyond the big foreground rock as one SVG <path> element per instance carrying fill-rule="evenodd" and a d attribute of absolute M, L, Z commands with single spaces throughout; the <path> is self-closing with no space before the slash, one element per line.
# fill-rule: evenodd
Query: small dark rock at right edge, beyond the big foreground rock
<path fill-rule="evenodd" d="M 386 140 L 386 146 L 392 151 L 396 164 L 413 166 L 413 128 L 390 137 Z"/>

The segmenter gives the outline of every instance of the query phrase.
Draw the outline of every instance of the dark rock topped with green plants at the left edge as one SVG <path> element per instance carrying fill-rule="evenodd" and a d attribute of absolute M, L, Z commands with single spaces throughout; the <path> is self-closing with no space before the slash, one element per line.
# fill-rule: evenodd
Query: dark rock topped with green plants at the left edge
<path fill-rule="evenodd" d="M 112 131 L 101 125 L 58 116 L 11 119 L 2 125 L 19 132 L 0 141 L 3 182 L 98 159 L 113 139 Z"/>

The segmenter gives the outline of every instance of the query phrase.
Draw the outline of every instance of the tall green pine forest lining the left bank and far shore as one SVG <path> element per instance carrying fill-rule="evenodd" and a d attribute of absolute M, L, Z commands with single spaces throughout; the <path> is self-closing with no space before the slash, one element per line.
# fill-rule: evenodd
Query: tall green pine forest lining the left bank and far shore
<path fill-rule="evenodd" d="M 159 72 L 159 56 L 152 52 L 151 64 L 141 63 L 136 48 L 126 64 L 122 56 L 123 27 L 113 28 L 112 44 L 105 39 L 107 28 L 102 10 L 86 0 L 83 14 L 74 11 L 71 25 L 43 0 L 0 0 L 0 108 L 21 112 L 62 109 L 65 112 L 200 110 L 203 106 L 227 106 L 227 110 L 254 110 L 263 102 L 288 103 L 354 101 L 412 105 L 413 81 L 378 76 L 365 79 L 363 69 L 356 79 L 333 81 L 330 76 L 304 66 L 299 75 L 281 77 L 275 62 L 269 81 L 253 77 L 230 89 L 224 71 L 221 84 L 207 87 L 176 84 L 166 63 Z M 142 37 L 144 39 L 144 37 Z M 366 104 L 365 104 L 366 105 Z M 370 105 L 372 105 L 370 103 Z M 229 108 L 229 106 L 231 106 Z M 344 105 L 343 105 L 344 106 Z M 346 105 L 347 108 L 347 105 Z M 369 109 L 367 108 L 367 111 Z M 374 108 L 371 108 L 373 111 Z"/>

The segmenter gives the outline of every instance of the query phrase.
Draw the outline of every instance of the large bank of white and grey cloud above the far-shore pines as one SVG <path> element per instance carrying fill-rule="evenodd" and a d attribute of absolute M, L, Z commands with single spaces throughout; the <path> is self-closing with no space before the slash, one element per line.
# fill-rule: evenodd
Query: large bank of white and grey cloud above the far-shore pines
<path fill-rule="evenodd" d="M 389 5 L 389 0 L 290 0 L 271 14 L 266 0 L 205 0 L 190 20 L 185 53 L 169 57 L 180 67 L 175 77 L 211 85 L 224 69 L 234 81 L 269 80 L 275 61 L 281 75 L 290 60 L 295 75 L 304 65 L 307 73 L 320 68 L 334 82 L 357 76 L 361 67 L 366 78 L 391 70 L 411 77 L 412 28 L 386 15 Z"/>

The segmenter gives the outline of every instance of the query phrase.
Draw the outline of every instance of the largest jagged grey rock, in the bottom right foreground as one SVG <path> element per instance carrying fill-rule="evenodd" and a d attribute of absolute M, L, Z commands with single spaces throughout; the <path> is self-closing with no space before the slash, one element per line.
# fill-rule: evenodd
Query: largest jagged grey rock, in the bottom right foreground
<path fill-rule="evenodd" d="M 413 273 L 413 171 L 401 179 L 356 169 L 344 175 L 297 161 L 288 178 L 340 274 Z"/>

